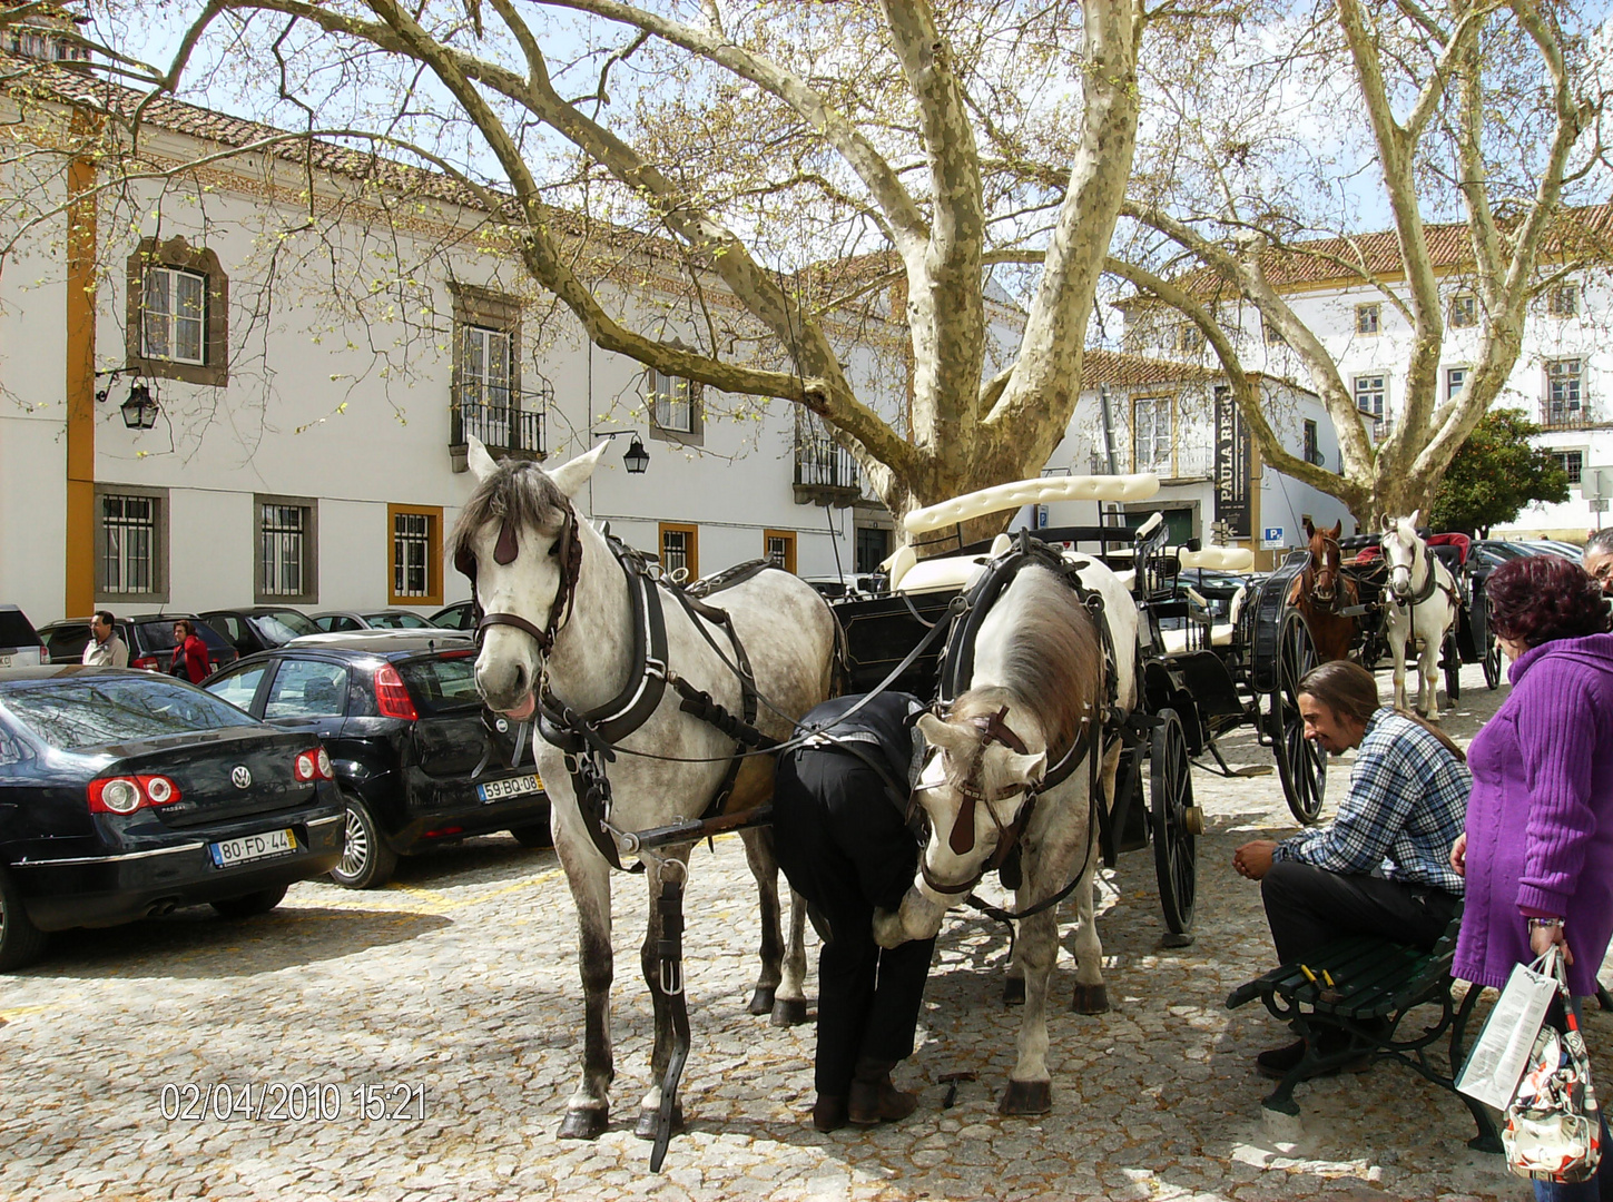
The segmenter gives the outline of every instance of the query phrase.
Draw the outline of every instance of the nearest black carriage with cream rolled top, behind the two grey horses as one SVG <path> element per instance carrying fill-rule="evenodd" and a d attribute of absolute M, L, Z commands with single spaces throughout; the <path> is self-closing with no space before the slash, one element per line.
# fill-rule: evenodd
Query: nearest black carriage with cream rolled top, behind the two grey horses
<path fill-rule="evenodd" d="M 910 534 L 931 547 L 950 539 L 950 552 L 924 560 L 911 549 L 897 552 L 890 595 L 845 602 L 836 605 L 836 613 L 847 632 L 853 691 L 889 681 L 889 687 L 948 702 L 966 684 L 961 668 L 968 658 L 960 649 L 971 636 L 971 615 L 990 605 L 1005 576 L 1037 558 L 1108 566 L 1136 608 L 1131 655 L 1139 694 L 1129 721 L 1118 728 L 1113 800 L 1095 807 L 1098 850 L 1105 866 L 1113 868 L 1121 852 L 1153 845 L 1168 941 L 1181 944 L 1192 937 L 1195 841 L 1203 829 L 1194 805 L 1194 762 L 1208 753 L 1224 774 L 1234 774 L 1218 739 L 1252 728 L 1276 755 L 1294 813 L 1310 823 L 1321 810 L 1326 760 L 1305 741 L 1297 708 L 1298 681 L 1316 662 L 1303 620 L 1287 605 L 1297 566 L 1250 578 L 1223 615 L 1182 582 L 1182 570 L 1247 574 L 1253 555 L 1197 544 L 1168 547 L 1158 515 L 1136 528 L 1044 528 L 957 545 L 963 521 L 1003 508 L 1071 499 L 1136 502 L 1157 489 L 1152 476 L 1053 478 L 921 510 L 907 520 Z M 1253 771 L 1242 768 L 1236 774 Z"/>

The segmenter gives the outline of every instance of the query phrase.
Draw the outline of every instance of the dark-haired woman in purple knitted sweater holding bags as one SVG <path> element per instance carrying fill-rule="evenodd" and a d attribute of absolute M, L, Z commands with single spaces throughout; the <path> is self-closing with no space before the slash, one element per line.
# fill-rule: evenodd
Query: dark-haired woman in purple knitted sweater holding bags
<path fill-rule="evenodd" d="M 1569 992 L 1589 997 L 1613 937 L 1608 607 L 1595 581 L 1557 555 L 1508 560 L 1490 574 L 1489 599 L 1513 687 L 1468 747 L 1468 829 L 1450 850 L 1468 900 L 1452 971 L 1500 987 L 1513 965 L 1560 944 Z M 1613 1197 L 1610 1154 L 1603 1144 L 1607 1181 L 1537 1181 L 1536 1197 Z"/>

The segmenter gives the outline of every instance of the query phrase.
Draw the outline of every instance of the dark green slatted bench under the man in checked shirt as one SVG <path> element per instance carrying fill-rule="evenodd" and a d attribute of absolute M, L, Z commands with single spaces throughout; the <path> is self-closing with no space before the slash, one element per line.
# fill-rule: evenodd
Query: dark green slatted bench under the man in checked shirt
<path fill-rule="evenodd" d="M 1289 1070 L 1261 1105 L 1297 1116 L 1300 1113 L 1294 1102 L 1297 1084 L 1360 1062 L 1363 1057 L 1373 1062 L 1398 1060 L 1442 1089 L 1455 1092 L 1455 1075 L 1466 1058 L 1463 1041 L 1468 1020 L 1482 992 L 1471 987 L 1460 1004 L 1455 997 L 1450 965 L 1457 954 L 1460 920 L 1458 912 L 1445 934 L 1428 952 L 1387 939 L 1340 939 L 1311 952 L 1303 965 L 1279 965 L 1234 989 L 1226 999 L 1227 1010 L 1258 997 L 1266 1004 L 1266 1010 L 1292 1025 L 1307 1041 L 1305 1057 Z M 1307 968 L 1310 976 L 1305 973 Z M 1439 1007 L 1432 1025 L 1424 1026 L 1432 1016 L 1431 1010 L 1421 1010 L 1418 1018 L 1407 1021 L 1407 1016 L 1421 1007 Z M 1402 1031 L 1402 1026 L 1407 1031 Z M 1334 1031 L 1342 1031 L 1348 1039 L 1337 1052 L 1318 1054 L 1319 1036 Z M 1447 1042 L 1445 1065 L 1429 1057 L 1429 1049 L 1439 1042 Z M 1473 1121 L 1479 1128 L 1478 1136 L 1468 1141 L 1468 1147 L 1500 1152 L 1500 1133 L 1490 1113 L 1463 1094 L 1457 1097 L 1473 1113 Z"/>

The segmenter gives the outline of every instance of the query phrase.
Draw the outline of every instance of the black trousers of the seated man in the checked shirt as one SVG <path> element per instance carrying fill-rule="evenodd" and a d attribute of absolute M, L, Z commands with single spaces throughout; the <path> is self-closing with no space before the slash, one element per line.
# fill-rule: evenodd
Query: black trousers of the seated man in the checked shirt
<path fill-rule="evenodd" d="M 1450 926 L 1460 900 L 1426 884 L 1344 876 L 1295 860 L 1273 863 L 1260 883 L 1260 895 L 1282 963 L 1357 934 L 1426 950 Z"/>

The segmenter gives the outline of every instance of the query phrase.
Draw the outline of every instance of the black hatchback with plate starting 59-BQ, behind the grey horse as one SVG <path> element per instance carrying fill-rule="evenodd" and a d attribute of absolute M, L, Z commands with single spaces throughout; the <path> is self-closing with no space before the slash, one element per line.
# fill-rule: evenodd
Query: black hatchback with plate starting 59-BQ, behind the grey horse
<path fill-rule="evenodd" d="M 358 631 L 248 655 L 203 687 L 282 729 L 319 736 L 347 805 L 331 879 L 386 884 L 398 855 L 510 831 L 548 845 L 548 797 L 515 728 L 482 708 L 476 647 L 452 631 Z"/>

